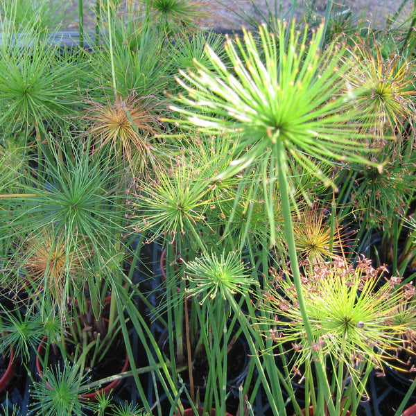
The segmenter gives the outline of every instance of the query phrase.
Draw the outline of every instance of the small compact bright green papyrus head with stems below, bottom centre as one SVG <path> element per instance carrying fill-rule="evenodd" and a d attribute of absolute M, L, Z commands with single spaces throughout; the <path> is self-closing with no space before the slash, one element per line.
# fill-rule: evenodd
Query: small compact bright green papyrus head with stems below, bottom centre
<path fill-rule="evenodd" d="M 184 278 L 187 281 L 187 295 L 192 295 L 193 301 L 198 302 L 196 314 L 200 324 L 199 343 L 207 352 L 209 374 L 203 408 L 206 412 L 207 409 L 215 407 L 216 412 L 223 415 L 225 400 L 229 393 L 227 392 L 228 354 L 241 333 L 241 329 L 235 327 L 236 316 L 230 310 L 228 300 L 250 291 L 250 286 L 256 284 L 256 281 L 245 267 L 240 252 L 225 251 L 220 254 L 212 251 L 210 254 L 202 254 L 189 261 L 185 265 Z M 243 334 L 240 336 L 243 338 Z M 185 338 L 189 351 L 191 348 L 189 330 L 186 331 Z M 188 358 L 191 368 L 191 359 L 195 356 L 189 355 Z M 189 376 L 192 380 L 192 370 Z M 192 382 L 191 388 L 193 388 Z"/>

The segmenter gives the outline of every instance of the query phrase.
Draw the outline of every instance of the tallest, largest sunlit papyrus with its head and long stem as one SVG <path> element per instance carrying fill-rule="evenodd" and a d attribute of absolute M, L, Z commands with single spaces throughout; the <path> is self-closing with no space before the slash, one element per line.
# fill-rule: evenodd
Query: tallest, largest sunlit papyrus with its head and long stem
<path fill-rule="evenodd" d="M 279 22 L 277 26 L 277 33 L 269 33 L 261 26 L 258 38 L 244 30 L 243 40 L 227 38 L 227 61 L 207 47 L 214 70 L 196 62 L 196 71 L 180 71 L 177 80 L 188 96 L 177 97 L 178 105 L 172 110 L 181 116 L 173 122 L 211 135 L 227 132 L 231 137 L 234 160 L 221 169 L 216 179 L 239 173 L 241 186 L 249 186 L 254 197 L 264 201 L 270 245 L 276 242 L 271 191 L 278 184 L 293 281 L 306 339 L 311 345 L 313 332 L 293 236 L 288 166 L 295 160 L 308 175 L 330 184 L 316 161 L 329 165 L 345 161 L 368 163 L 362 155 L 363 139 L 368 135 L 363 127 L 376 114 L 363 116 L 355 105 L 354 94 L 345 87 L 344 76 L 352 71 L 351 64 L 343 59 L 346 49 L 332 42 L 320 50 L 324 25 L 316 31 L 308 27 L 297 31 L 294 23 L 288 26 Z M 253 171 L 258 173 L 255 180 Z M 233 212 L 229 223 L 232 220 Z M 318 404 L 324 409 L 324 397 L 330 395 L 329 383 L 322 363 L 316 363 Z M 329 411 L 335 414 L 331 402 Z"/>

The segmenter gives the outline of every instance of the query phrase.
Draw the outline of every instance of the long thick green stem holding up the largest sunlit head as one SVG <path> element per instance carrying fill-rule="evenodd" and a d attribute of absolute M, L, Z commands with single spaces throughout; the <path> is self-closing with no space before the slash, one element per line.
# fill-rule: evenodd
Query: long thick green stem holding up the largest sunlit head
<path fill-rule="evenodd" d="M 283 141 L 277 137 L 277 142 L 275 144 L 275 155 L 277 155 L 277 171 L 279 175 L 279 191 L 281 196 L 281 209 L 283 211 L 283 220 L 284 220 L 284 234 L 286 237 L 286 244 L 288 245 L 288 254 L 291 261 L 291 269 L 293 275 L 293 283 L 295 284 L 297 301 L 299 302 L 300 312 L 302 314 L 302 319 L 304 321 L 304 327 L 306 331 L 306 336 L 309 341 L 309 347 L 312 347 L 313 343 L 313 334 L 311 329 L 311 324 L 309 322 L 308 313 L 306 311 L 306 304 L 304 301 L 302 281 L 300 278 L 300 269 L 299 263 L 297 261 L 296 254 L 296 245 L 295 245 L 295 236 L 293 235 L 293 224 L 292 224 L 292 215 L 291 215 L 291 201 L 289 198 L 289 189 L 288 189 L 288 178 L 286 176 L 286 153 L 284 150 Z M 313 356 L 316 356 L 316 352 L 311 348 Z M 329 384 L 327 381 L 327 376 L 324 372 L 324 366 L 321 361 L 315 361 L 315 369 L 318 376 L 318 386 L 320 388 L 321 394 L 320 397 L 329 399 L 331 397 L 331 392 L 329 389 Z M 333 406 L 332 400 L 326 400 L 329 413 L 334 415 L 335 407 Z M 320 409 L 324 409 L 324 403 L 320 403 Z"/>

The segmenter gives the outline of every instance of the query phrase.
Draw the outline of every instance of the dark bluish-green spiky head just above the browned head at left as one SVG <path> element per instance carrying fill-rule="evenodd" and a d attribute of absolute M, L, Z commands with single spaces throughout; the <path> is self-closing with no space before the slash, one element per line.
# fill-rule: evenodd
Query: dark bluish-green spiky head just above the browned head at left
<path fill-rule="evenodd" d="M 87 151 L 71 149 L 71 144 L 51 150 L 44 148 L 40 173 L 26 187 L 33 196 L 14 201 L 12 225 L 19 234 L 53 226 L 55 237 L 62 235 L 67 252 L 86 247 L 89 254 L 101 258 L 102 265 L 107 264 L 114 256 L 123 221 L 125 197 L 117 189 L 119 174 Z M 24 221 L 28 217 L 34 220 Z"/>

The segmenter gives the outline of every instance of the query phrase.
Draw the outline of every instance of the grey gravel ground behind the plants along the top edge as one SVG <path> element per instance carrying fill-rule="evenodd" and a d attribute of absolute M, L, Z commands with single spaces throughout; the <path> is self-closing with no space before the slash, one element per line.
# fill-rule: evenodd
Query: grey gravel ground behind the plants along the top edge
<path fill-rule="evenodd" d="M 1 0 L 0 0 L 1 1 Z M 83 0 L 85 9 L 88 8 L 88 3 L 95 3 L 95 0 Z M 275 4 L 281 3 L 282 12 L 285 13 L 291 7 L 294 0 L 194 0 L 200 3 L 201 11 L 207 12 L 210 16 L 207 19 L 202 19 L 200 26 L 205 28 L 214 28 L 217 31 L 230 31 L 241 28 L 245 24 L 246 17 L 239 17 L 239 15 L 248 16 L 257 19 L 259 22 L 263 20 L 263 16 L 268 15 L 268 10 L 275 10 Z M 322 15 L 327 2 L 330 0 L 316 0 L 315 9 L 313 12 L 316 15 Z M 388 16 L 395 14 L 403 0 L 331 0 L 334 2 L 334 7 L 349 8 L 355 15 L 362 16 L 374 26 L 383 26 L 385 19 Z M 297 3 L 309 3 L 311 0 L 297 0 Z M 404 10 L 401 12 L 398 21 L 404 21 L 410 17 L 414 0 L 408 0 Z M 279 7 L 279 6 L 278 6 Z M 72 0 L 70 8 L 73 12 L 78 10 L 78 0 Z M 302 8 L 297 6 L 296 16 L 299 17 Z M 92 25 L 92 21 L 85 17 L 86 26 Z M 67 26 L 67 29 L 78 28 L 78 22 L 72 21 Z"/>

